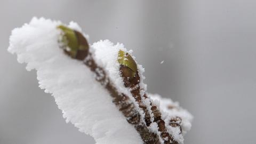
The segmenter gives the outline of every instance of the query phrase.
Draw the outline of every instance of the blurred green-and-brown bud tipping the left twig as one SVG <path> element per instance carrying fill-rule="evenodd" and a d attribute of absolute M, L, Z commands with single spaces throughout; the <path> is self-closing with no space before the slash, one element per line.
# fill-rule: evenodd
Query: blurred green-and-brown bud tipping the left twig
<path fill-rule="evenodd" d="M 57 27 L 63 34 L 61 36 L 61 45 L 65 52 L 72 58 L 83 60 L 89 50 L 89 44 L 86 38 L 79 31 L 60 25 Z"/>

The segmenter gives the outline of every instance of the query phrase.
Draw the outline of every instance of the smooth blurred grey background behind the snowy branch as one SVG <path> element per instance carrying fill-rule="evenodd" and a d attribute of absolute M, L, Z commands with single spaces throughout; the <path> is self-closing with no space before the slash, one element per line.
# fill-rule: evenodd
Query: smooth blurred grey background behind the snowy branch
<path fill-rule="evenodd" d="M 1 144 L 94 143 L 6 51 L 11 30 L 33 16 L 74 20 L 90 43 L 133 49 L 148 91 L 194 115 L 185 143 L 256 143 L 256 1 L 1 0 Z"/>

